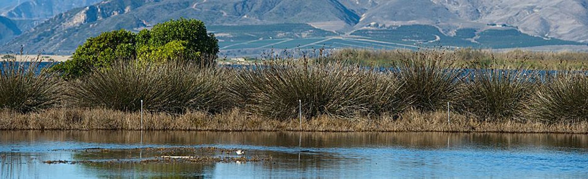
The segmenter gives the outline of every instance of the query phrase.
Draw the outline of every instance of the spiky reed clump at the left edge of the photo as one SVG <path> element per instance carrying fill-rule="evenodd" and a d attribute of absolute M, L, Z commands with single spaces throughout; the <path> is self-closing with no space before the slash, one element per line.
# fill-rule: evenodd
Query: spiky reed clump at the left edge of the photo
<path fill-rule="evenodd" d="M 0 61 L 0 109 L 36 112 L 57 106 L 64 97 L 62 80 L 36 59 Z"/>

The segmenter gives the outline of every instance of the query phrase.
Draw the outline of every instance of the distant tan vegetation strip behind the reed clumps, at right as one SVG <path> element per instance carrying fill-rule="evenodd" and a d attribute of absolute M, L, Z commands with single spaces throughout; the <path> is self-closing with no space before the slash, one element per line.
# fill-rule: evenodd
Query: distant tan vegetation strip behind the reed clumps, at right
<path fill-rule="evenodd" d="M 435 52 L 436 51 L 436 52 Z M 457 50 L 429 50 L 439 56 L 451 56 L 456 65 L 467 68 L 492 68 L 502 66 L 526 65 L 533 69 L 585 70 L 588 67 L 586 52 L 538 52 L 527 50 L 510 50 L 495 52 L 492 50 L 462 48 Z M 342 49 L 333 52 L 333 58 L 349 59 L 363 65 L 393 65 L 397 60 L 415 53 L 412 50 L 369 50 Z"/>

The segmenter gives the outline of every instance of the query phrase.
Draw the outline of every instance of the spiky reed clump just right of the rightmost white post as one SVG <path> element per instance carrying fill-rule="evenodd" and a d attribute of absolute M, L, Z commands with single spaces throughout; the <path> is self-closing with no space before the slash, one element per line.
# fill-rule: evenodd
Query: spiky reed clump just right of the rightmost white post
<path fill-rule="evenodd" d="M 479 69 L 465 88 L 463 110 L 481 120 L 520 119 L 536 87 L 536 73 L 519 68 Z"/>

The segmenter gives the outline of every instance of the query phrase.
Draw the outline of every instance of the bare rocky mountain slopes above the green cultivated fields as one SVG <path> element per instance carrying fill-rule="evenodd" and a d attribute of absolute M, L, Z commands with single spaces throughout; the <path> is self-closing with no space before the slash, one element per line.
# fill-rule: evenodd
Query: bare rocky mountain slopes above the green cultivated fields
<path fill-rule="evenodd" d="M 207 25 L 307 23 L 342 36 L 365 29 L 431 25 L 443 33 L 437 37 L 454 36 L 459 29 L 479 33 L 502 28 L 544 39 L 588 42 L 587 4 L 588 0 L 108 0 L 58 14 L 3 49 L 22 45 L 33 51 L 71 53 L 103 31 L 139 31 L 179 17 L 201 19 Z"/>

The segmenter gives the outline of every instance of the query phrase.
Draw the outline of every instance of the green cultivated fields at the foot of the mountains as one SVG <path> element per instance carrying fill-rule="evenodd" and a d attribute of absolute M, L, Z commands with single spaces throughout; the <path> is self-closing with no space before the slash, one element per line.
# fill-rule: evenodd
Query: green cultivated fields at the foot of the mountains
<path fill-rule="evenodd" d="M 256 56 L 268 49 L 410 49 L 482 48 L 524 49 L 540 46 L 568 46 L 588 50 L 584 43 L 530 36 L 516 29 L 463 28 L 442 33 L 435 26 L 405 25 L 387 28 L 363 28 L 350 33 L 335 33 L 298 23 L 281 25 L 209 26 L 220 40 L 219 46 L 227 56 Z M 449 35 L 450 34 L 450 35 Z"/>

